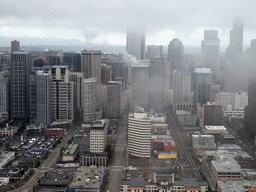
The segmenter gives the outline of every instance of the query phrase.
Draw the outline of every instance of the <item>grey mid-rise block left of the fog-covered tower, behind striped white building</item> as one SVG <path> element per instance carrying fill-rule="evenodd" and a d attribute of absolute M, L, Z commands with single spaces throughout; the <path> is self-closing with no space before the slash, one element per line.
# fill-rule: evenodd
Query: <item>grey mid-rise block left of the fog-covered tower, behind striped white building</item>
<path fill-rule="evenodd" d="M 106 117 L 117 119 L 120 117 L 122 100 L 122 83 L 120 81 L 109 81 L 107 84 L 107 111 Z"/>

